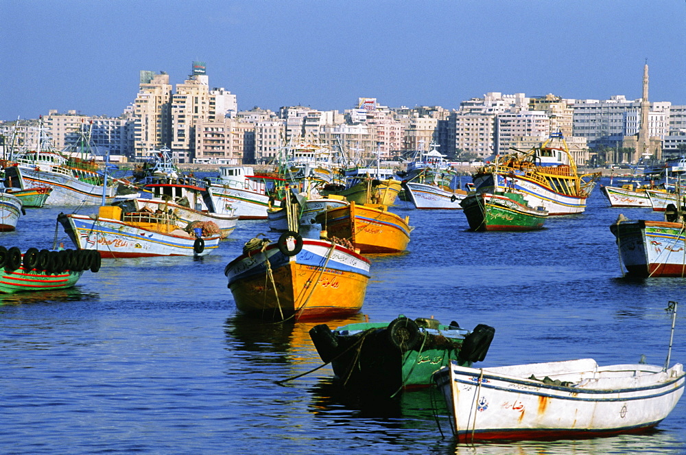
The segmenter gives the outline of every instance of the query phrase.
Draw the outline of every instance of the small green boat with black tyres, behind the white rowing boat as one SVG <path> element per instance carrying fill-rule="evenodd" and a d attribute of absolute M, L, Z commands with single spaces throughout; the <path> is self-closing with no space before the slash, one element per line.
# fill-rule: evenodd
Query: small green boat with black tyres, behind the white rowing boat
<path fill-rule="evenodd" d="M 348 388 L 394 395 L 400 390 L 431 386 L 431 374 L 451 360 L 471 366 L 486 357 L 495 329 L 434 318 L 412 320 L 402 314 L 390 323 L 354 323 L 331 330 L 326 324 L 309 331 L 323 362 Z"/>

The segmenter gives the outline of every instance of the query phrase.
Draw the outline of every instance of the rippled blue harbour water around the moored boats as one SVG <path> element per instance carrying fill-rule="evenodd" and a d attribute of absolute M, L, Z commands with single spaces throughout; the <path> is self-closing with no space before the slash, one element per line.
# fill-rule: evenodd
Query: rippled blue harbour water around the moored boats
<path fill-rule="evenodd" d="M 459 211 L 393 210 L 415 226 L 407 253 L 372 257 L 369 320 L 434 316 L 496 327 L 482 366 L 595 358 L 662 365 L 667 302 L 682 307 L 672 362 L 686 361 L 686 279 L 626 281 L 608 225 L 619 213 L 596 189 L 583 215 L 532 233 L 471 233 Z M 7 247 L 73 247 L 56 216 L 31 209 Z M 89 213 L 86 209 L 85 213 Z M 202 259 L 110 259 L 76 288 L 16 294 L 0 306 L 0 452 L 683 454 L 686 399 L 656 432 L 586 441 L 456 445 L 442 439 L 431 394 L 370 401 L 342 393 L 307 331 L 237 316 L 224 266 L 262 221 Z M 276 235 L 273 235 L 276 239 Z M 343 325 L 362 320 L 329 321 Z M 478 365 L 478 364 L 477 364 Z M 445 408 L 439 409 L 445 413 Z"/>

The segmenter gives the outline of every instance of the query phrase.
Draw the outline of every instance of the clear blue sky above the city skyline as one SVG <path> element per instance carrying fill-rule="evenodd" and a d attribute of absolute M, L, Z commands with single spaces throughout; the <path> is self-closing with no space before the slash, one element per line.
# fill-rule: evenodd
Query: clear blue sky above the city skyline
<path fill-rule="evenodd" d="M 119 115 L 139 71 L 239 109 L 458 108 L 484 93 L 686 104 L 684 0 L 0 0 L 0 119 Z"/>

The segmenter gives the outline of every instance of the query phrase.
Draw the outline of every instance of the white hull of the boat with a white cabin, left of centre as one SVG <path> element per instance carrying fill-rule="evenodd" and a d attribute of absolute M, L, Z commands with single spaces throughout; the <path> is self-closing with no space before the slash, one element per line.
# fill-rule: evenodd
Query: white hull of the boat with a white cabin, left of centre
<path fill-rule="evenodd" d="M 207 191 L 217 213 L 233 213 L 239 220 L 267 219 L 269 196 L 266 194 L 221 185 L 210 185 Z"/>

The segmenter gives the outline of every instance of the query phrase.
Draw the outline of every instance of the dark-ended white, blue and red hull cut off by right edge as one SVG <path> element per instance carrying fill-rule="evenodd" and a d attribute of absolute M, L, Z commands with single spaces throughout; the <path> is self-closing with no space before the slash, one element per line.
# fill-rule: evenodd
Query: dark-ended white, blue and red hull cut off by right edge
<path fill-rule="evenodd" d="M 630 275 L 686 277 L 686 231 L 681 222 L 620 220 L 610 225 Z"/>

